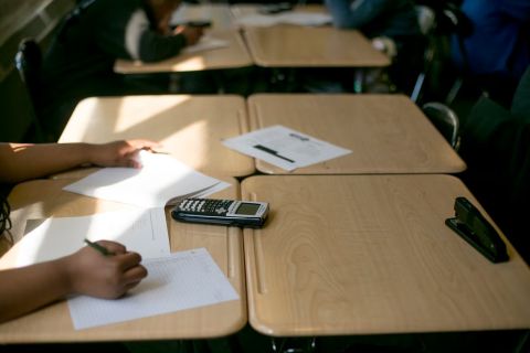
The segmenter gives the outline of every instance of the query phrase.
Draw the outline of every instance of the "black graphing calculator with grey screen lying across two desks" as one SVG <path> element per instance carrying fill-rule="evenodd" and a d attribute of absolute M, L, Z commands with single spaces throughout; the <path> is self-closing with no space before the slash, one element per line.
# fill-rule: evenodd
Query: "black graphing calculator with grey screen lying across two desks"
<path fill-rule="evenodd" d="M 233 225 L 259 228 L 268 214 L 268 203 L 216 200 L 184 199 L 171 210 L 171 216 L 181 222 Z"/>

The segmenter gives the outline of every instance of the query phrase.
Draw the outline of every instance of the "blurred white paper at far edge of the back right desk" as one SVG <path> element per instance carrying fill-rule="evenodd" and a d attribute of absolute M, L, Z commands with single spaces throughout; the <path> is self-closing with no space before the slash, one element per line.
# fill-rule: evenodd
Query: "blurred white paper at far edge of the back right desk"
<path fill-rule="evenodd" d="M 240 25 L 271 26 L 280 23 L 296 25 L 325 25 L 331 23 L 328 13 L 286 11 L 276 14 L 250 13 L 236 20 Z"/>

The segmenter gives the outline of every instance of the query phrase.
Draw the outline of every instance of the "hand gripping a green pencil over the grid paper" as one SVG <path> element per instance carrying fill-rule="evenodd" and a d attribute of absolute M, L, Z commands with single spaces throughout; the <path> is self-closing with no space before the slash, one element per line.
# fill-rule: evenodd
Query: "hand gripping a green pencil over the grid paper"
<path fill-rule="evenodd" d="M 136 287 L 146 276 L 141 257 L 115 242 L 99 240 L 114 255 L 105 256 L 85 246 L 65 258 L 72 293 L 115 299 Z"/>

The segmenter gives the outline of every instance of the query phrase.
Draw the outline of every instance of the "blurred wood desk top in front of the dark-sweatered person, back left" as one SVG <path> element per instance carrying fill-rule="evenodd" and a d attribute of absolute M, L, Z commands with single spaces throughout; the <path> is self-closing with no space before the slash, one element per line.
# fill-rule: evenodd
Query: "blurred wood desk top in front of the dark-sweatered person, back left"
<path fill-rule="evenodd" d="M 236 30 L 212 28 L 206 30 L 205 34 L 226 41 L 229 45 L 195 53 L 182 53 L 157 63 L 117 60 L 114 71 L 119 74 L 182 73 L 253 65 L 243 38 Z"/>

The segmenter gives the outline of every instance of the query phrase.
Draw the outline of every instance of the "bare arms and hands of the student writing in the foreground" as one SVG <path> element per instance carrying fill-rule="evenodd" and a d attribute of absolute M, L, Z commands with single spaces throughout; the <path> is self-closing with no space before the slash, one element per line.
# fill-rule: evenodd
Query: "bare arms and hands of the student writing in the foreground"
<path fill-rule="evenodd" d="M 156 143 L 146 140 L 105 145 L 0 143 L 0 183 L 14 184 L 86 163 L 102 167 L 140 168 L 140 149 Z M 0 195 L 0 243 L 9 243 L 9 204 Z M 140 255 L 115 242 L 100 240 L 114 256 L 84 247 L 70 256 L 21 268 L 0 270 L 0 322 L 14 319 L 68 295 L 118 298 L 147 276 Z"/>

